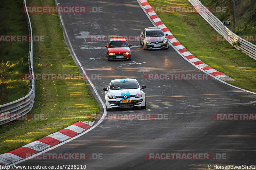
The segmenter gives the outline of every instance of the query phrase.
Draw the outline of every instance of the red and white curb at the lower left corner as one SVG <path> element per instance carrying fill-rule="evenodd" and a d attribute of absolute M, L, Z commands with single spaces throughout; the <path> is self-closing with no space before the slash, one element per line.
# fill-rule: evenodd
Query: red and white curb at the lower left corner
<path fill-rule="evenodd" d="M 18 160 L 27 158 L 35 153 L 41 152 L 53 145 L 59 144 L 75 135 L 82 133 L 89 127 L 91 127 L 94 122 L 76 122 L 65 129 L 57 131 L 51 135 L 44 138 L 31 142 L 13 151 L 4 153 L 0 155 L 0 165 L 9 165 Z"/>

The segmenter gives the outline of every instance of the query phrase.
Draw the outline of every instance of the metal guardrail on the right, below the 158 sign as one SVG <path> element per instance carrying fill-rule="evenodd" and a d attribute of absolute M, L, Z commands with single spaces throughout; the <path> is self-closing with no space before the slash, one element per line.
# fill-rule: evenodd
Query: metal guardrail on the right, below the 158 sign
<path fill-rule="evenodd" d="M 230 31 L 223 23 L 215 17 L 199 0 L 188 0 L 196 9 L 196 11 L 232 46 L 243 51 L 254 60 L 256 60 L 256 45 L 242 39 L 234 32 Z M 200 12 L 201 11 L 201 12 Z"/>

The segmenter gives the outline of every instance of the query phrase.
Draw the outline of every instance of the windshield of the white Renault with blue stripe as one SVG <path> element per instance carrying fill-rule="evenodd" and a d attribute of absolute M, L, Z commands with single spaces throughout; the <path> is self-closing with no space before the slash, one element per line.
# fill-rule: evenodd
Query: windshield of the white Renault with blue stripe
<path fill-rule="evenodd" d="M 115 81 L 110 85 L 110 90 L 120 90 L 120 89 L 138 89 L 139 84 L 137 81 Z"/>

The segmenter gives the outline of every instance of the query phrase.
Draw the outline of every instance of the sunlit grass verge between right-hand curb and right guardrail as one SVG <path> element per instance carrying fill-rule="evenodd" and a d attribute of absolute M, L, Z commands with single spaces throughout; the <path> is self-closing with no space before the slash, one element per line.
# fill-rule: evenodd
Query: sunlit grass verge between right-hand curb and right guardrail
<path fill-rule="evenodd" d="M 148 0 L 151 6 L 190 6 L 187 0 Z M 176 39 L 210 67 L 227 74 L 237 87 L 256 92 L 256 61 L 231 46 L 215 42 L 219 35 L 198 13 L 156 12 Z"/>

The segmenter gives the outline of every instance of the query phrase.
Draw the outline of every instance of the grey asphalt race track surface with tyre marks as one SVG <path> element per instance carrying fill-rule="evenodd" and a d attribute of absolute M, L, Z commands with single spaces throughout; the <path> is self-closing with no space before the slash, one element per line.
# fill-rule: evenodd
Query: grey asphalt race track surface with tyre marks
<path fill-rule="evenodd" d="M 256 95 L 217 80 L 146 80 L 148 73 L 203 73 L 170 46 L 143 50 L 132 44 L 131 61 L 108 61 L 106 42 L 84 35 L 140 35 L 153 26 L 136 0 L 58 0 L 59 6 L 100 6 L 101 13 L 62 13 L 74 51 L 105 102 L 103 87 L 112 79 L 136 78 L 146 85 L 147 109 L 108 114 L 153 114 L 154 120 L 103 120 L 89 133 L 49 153 L 102 154 L 102 159 L 26 160 L 18 165 L 86 165 L 86 169 L 208 169 L 208 165 L 255 164 L 255 121 L 217 121 L 216 113 L 255 113 Z M 184 28 L 185 29 L 185 28 Z M 88 83 L 88 81 L 86 81 Z M 88 85 L 94 94 L 92 87 Z M 96 97 L 95 97 L 96 98 Z M 99 102 L 99 101 L 98 101 Z M 103 110 L 99 102 L 101 110 Z M 103 114 L 103 111 L 100 113 Z M 167 114 L 165 119 L 161 116 Z M 157 118 L 159 117 L 159 118 Z M 148 160 L 146 153 L 225 153 L 228 159 Z"/>

